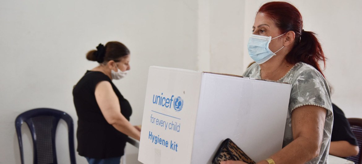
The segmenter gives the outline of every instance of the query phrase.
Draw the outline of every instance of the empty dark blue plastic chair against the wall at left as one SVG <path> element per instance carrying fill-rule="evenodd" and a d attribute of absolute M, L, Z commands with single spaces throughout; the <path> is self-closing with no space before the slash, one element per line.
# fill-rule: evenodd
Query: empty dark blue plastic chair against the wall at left
<path fill-rule="evenodd" d="M 73 119 L 65 112 L 49 108 L 31 109 L 16 117 L 15 128 L 18 136 L 21 164 L 24 164 L 24 153 L 21 139 L 21 125 L 23 122 L 26 122 L 28 125 L 33 139 L 33 163 L 58 163 L 55 149 L 55 132 L 59 119 L 63 119 L 67 123 L 70 163 L 75 164 Z"/>

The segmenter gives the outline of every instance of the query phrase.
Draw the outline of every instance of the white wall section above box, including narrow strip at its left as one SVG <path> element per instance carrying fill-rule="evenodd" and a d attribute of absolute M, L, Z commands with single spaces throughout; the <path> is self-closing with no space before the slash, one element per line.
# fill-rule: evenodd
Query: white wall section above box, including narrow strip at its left
<path fill-rule="evenodd" d="M 198 70 L 243 74 L 244 1 L 198 1 Z"/>

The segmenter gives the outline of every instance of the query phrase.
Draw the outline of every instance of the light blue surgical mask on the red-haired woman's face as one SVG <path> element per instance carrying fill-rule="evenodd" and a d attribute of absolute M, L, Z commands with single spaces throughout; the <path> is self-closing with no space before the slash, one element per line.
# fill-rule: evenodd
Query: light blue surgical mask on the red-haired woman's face
<path fill-rule="evenodd" d="M 275 38 L 278 38 L 284 34 L 281 34 Z M 275 39 L 275 38 L 273 38 L 273 39 Z M 281 50 L 284 47 L 283 46 L 276 52 L 271 52 L 269 49 L 269 43 L 273 39 L 271 39 L 271 37 L 266 37 L 266 36 L 262 36 L 262 35 L 254 35 L 254 34 L 250 35 L 249 42 L 248 42 L 248 52 L 249 52 L 250 57 L 256 63 L 258 63 L 258 64 L 265 63 L 271 57 L 276 55 L 275 53 L 277 53 L 279 50 Z"/>

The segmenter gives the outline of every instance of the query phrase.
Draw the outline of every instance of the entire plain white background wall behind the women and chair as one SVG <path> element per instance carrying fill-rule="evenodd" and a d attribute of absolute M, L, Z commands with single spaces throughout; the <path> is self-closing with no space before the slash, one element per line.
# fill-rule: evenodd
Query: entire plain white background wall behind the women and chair
<path fill-rule="evenodd" d="M 16 116 L 49 107 L 75 120 L 72 87 L 97 66 L 85 53 L 98 43 L 121 41 L 131 50 L 131 72 L 114 81 L 130 101 L 131 123 L 140 124 L 148 66 L 166 66 L 241 75 L 252 61 L 246 44 L 255 12 L 265 1 L 109 0 L 0 1 L 0 164 L 20 163 Z M 319 34 L 329 58 L 325 75 L 333 102 L 347 117 L 362 118 L 359 61 L 362 2 L 292 0 L 304 29 Z M 24 129 L 27 161 L 31 144 Z M 59 163 L 68 163 L 64 122 L 58 130 Z M 127 153 L 137 149 L 126 148 Z M 77 155 L 77 163 L 86 163 Z"/>

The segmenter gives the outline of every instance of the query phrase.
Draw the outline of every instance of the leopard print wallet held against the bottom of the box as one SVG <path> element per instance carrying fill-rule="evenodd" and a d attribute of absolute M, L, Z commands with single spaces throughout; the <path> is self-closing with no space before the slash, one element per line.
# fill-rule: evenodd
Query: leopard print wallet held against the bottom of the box
<path fill-rule="evenodd" d="M 212 164 L 220 164 L 221 161 L 226 160 L 243 161 L 248 164 L 255 164 L 255 161 L 237 147 L 230 138 L 221 143 L 221 146 L 218 148 L 218 151 L 212 159 Z"/>

